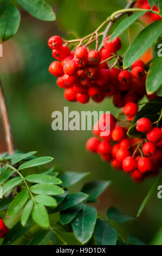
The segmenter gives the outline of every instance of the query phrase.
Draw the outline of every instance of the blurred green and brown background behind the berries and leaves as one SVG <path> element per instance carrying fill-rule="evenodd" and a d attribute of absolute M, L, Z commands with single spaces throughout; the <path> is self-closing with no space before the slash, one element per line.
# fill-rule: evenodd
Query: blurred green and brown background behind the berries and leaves
<path fill-rule="evenodd" d="M 21 10 L 21 26 L 18 33 L 3 43 L 3 57 L 0 58 L 1 79 L 9 109 L 15 148 L 24 152 L 37 150 L 39 156 L 53 156 L 54 164 L 64 170 L 92 172 L 90 179 L 112 180 L 112 185 L 99 198 L 96 205 L 101 215 L 115 205 L 125 213 L 135 216 L 155 179 L 142 184 L 133 184 L 130 176 L 116 172 L 98 155 L 85 150 L 85 143 L 91 131 L 53 131 L 51 113 L 55 110 L 69 111 L 111 111 L 112 100 L 102 103 L 90 101 L 87 105 L 67 102 L 63 89 L 56 86 L 55 77 L 48 72 L 53 61 L 47 41 L 51 35 L 63 38 L 80 38 L 95 30 L 109 14 L 125 7 L 126 1 L 116 0 L 50 0 L 47 1 L 56 13 L 56 21 L 43 22 Z M 117 22 L 118 23 L 118 22 Z M 112 27 L 114 29 L 116 25 Z M 132 38 L 140 31 L 138 25 L 131 27 Z M 127 33 L 121 35 L 121 54 L 128 47 Z M 0 126 L 1 151 L 6 150 L 2 124 Z M 72 187 L 79 191 L 80 184 Z M 138 223 L 128 223 L 126 229 L 142 240 L 151 242 L 162 224 L 162 204 L 154 193 Z M 161 242 L 161 235 L 158 235 Z"/>

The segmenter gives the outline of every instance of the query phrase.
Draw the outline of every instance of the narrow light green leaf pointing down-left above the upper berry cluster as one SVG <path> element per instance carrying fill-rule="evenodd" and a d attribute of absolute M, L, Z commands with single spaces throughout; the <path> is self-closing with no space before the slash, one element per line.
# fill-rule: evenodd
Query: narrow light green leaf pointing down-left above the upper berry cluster
<path fill-rule="evenodd" d="M 122 32 L 124 32 L 129 26 L 133 24 L 134 21 L 139 19 L 142 15 L 144 15 L 146 11 L 139 11 L 138 13 L 134 13 L 133 15 L 127 17 L 122 20 L 119 25 L 115 28 L 113 34 L 109 38 L 109 42 L 111 42 L 116 36 L 119 36 Z"/>

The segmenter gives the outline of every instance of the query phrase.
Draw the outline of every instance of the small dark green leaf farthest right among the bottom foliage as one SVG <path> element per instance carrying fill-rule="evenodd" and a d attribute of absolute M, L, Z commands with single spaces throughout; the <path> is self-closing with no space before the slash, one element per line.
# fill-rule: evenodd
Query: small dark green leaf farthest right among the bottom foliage
<path fill-rule="evenodd" d="M 113 206 L 107 210 L 106 217 L 108 218 L 108 220 L 113 220 L 116 223 L 135 220 L 133 217 L 122 213 L 121 211 L 114 208 Z"/>

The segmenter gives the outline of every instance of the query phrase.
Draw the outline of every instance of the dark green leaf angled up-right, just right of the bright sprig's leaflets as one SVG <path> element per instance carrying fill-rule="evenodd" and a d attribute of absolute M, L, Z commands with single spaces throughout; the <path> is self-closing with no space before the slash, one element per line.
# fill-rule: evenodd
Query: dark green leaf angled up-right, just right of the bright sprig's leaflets
<path fill-rule="evenodd" d="M 88 194 L 82 192 L 68 194 L 68 196 L 63 200 L 63 203 L 60 205 L 61 211 L 83 202 L 87 197 Z"/>

